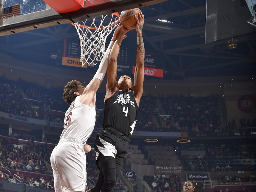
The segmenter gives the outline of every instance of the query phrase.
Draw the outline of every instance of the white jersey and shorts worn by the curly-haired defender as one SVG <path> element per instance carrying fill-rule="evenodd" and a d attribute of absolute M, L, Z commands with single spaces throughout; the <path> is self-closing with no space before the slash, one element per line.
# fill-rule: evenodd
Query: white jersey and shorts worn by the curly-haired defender
<path fill-rule="evenodd" d="M 80 96 L 68 108 L 60 142 L 53 149 L 51 165 L 56 192 L 85 191 L 86 157 L 84 146 L 95 125 L 95 107 L 79 101 Z"/>

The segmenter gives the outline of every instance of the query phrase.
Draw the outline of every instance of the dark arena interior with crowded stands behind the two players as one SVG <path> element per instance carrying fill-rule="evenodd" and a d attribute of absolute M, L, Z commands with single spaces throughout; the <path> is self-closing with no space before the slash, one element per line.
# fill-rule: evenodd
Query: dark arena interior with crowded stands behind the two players
<path fill-rule="evenodd" d="M 21 15 L 46 7 L 41 0 L 3 3 L 21 4 Z M 140 7 L 143 96 L 114 192 L 181 192 L 186 181 L 195 192 L 256 191 L 256 28 L 246 23 L 252 17 L 246 3 L 167 0 Z M 137 34 L 127 35 L 117 76 L 133 79 Z M 71 24 L 0 36 L 0 192 L 54 191 L 50 156 L 68 109 L 63 88 L 73 79 L 86 85 L 98 68 L 81 68 L 80 50 Z M 102 84 L 92 147 L 102 129 L 106 79 Z M 99 175 L 94 150 L 86 161 L 92 188 Z"/>

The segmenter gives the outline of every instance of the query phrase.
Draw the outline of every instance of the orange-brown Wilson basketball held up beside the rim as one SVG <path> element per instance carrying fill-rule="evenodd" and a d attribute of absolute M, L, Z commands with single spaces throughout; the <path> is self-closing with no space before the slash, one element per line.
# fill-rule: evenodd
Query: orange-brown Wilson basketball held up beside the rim
<path fill-rule="evenodd" d="M 120 15 L 122 25 L 128 29 L 135 29 L 137 21 L 134 16 L 139 12 L 141 12 L 139 8 L 122 11 Z"/>

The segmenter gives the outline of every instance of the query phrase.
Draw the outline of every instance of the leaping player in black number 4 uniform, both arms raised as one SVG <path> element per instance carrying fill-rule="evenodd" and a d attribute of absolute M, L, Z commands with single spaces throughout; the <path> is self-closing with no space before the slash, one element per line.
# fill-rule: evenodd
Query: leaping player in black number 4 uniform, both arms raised
<path fill-rule="evenodd" d="M 104 128 L 98 132 L 94 143 L 96 164 L 100 169 L 100 175 L 95 188 L 89 190 L 91 192 L 111 192 L 114 188 L 116 175 L 123 166 L 124 156 L 128 152 L 130 137 L 137 121 L 144 81 L 145 50 L 142 38 L 144 15 L 140 12 L 136 20 L 137 59 L 133 85 L 131 77 L 127 75 L 121 76 L 118 82 L 116 81 L 116 60 L 123 36 L 129 31 L 128 29 L 120 29 L 109 55 L 107 93 L 104 99 Z"/>

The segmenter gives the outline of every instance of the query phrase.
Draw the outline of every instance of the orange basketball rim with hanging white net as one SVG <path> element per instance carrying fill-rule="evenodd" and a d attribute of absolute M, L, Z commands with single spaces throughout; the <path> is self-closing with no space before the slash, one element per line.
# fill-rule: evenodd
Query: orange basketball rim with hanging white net
<path fill-rule="evenodd" d="M 120 20 L 118 12 L 102 15 L 100 17 L 88 18 L 82 21 L 82 24 L 73 23 L 76 27 L 81 46 L 82 67 L 87 65 L 96 65 L 101 61 L 105 53 L 106 39 L 111 31 L 117 26 Z M 86 25 L 86 22 L 92 22 Z M 98 22 L 98 23 L 97 23 Z"/>

